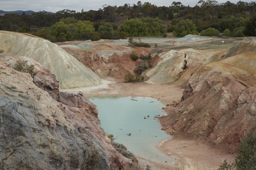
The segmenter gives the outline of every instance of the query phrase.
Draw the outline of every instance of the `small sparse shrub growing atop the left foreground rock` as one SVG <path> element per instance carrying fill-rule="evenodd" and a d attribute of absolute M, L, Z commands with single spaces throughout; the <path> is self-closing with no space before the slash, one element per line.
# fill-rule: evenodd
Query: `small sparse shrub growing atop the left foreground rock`
<path fill-rule="evenodd" d="M 28 61 L 21 61 L 21 60 L 18 60 L 15 64 L 14 64 L 14 67 L 13 69 L 19 71 L 19 72 L 22 72 L 22 73 L 29 73 L 31 75 L 32 78 L 35 77 L 35 75 L 37 74 L 35 71 L 34 71 L 34 65 L 28 65 L 27 64 Z"/>

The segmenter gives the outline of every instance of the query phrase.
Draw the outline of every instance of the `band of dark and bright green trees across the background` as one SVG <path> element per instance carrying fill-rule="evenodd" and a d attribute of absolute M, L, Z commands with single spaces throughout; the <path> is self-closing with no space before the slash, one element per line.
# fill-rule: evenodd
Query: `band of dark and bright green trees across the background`
<path fill-rule="evenodd" d="M 243 1 L 233 4 L 200 0 L 194 7 L 175 1 L 168 7 L 138 1 L 119 7 L 105 4 L 97 11 L 65 9 L 55 14 L 46 11 L 32 15 L 5 14 L 0 16 L 0 30 L 28 32 L 53 42 L 161 36 L 166 31 L 177 37 L 199 32 L 205 36 L 214 36 L 218 32 L 234 37 L 256 36 L 255 10 L 255 2 Z M 183 30 L 180 30 L 181 25 Z"/>

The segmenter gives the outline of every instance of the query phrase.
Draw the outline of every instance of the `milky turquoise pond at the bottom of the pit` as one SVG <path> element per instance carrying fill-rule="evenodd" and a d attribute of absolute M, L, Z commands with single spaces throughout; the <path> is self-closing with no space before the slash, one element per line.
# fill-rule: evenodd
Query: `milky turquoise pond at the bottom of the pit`
<path fill-rule="evenodd" d="M 157 146 L 171 138 L 161 130 L 160 123 L 154 118 L 165 114 L 162 110 L 166 106 L 164 103 L 150 97 L 86 97 L 97 105 L 101 126 L 107 134 L 117 137 L 115 142 L 125 145 L 130 152 L 145 159 L 159 163 L 174 161 Z M 127 135 L 129 133 L 131 136 Z"/>

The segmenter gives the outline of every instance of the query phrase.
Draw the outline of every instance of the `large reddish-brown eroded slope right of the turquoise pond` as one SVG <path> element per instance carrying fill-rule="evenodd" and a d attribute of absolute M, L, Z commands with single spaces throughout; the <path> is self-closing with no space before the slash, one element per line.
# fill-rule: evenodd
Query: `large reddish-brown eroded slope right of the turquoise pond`
<path fill-rule="evenodd" d="M 256 124 L 255 42 L 255 38 L 244 38 L 236 50 L 218 54 L 225 60 L 200 67 L 191 76 L 183 102 L 164 117 L 165 125 L 172 126 L 171 134 L 237 151 L 239 140 Z"/>

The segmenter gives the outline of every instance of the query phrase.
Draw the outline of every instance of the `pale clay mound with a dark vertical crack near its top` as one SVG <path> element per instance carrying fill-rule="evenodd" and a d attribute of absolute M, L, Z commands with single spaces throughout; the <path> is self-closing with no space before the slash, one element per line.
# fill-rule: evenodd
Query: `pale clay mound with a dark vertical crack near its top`
<path fill-rule="evenodd" d="M 160 57 L 157 65 L 146 74 L 149 83 L 185 84 L 190 76 L 200 67 L 212 62 L 217 50 L 202 51 L 185 49 L 171 50 Z"/>

